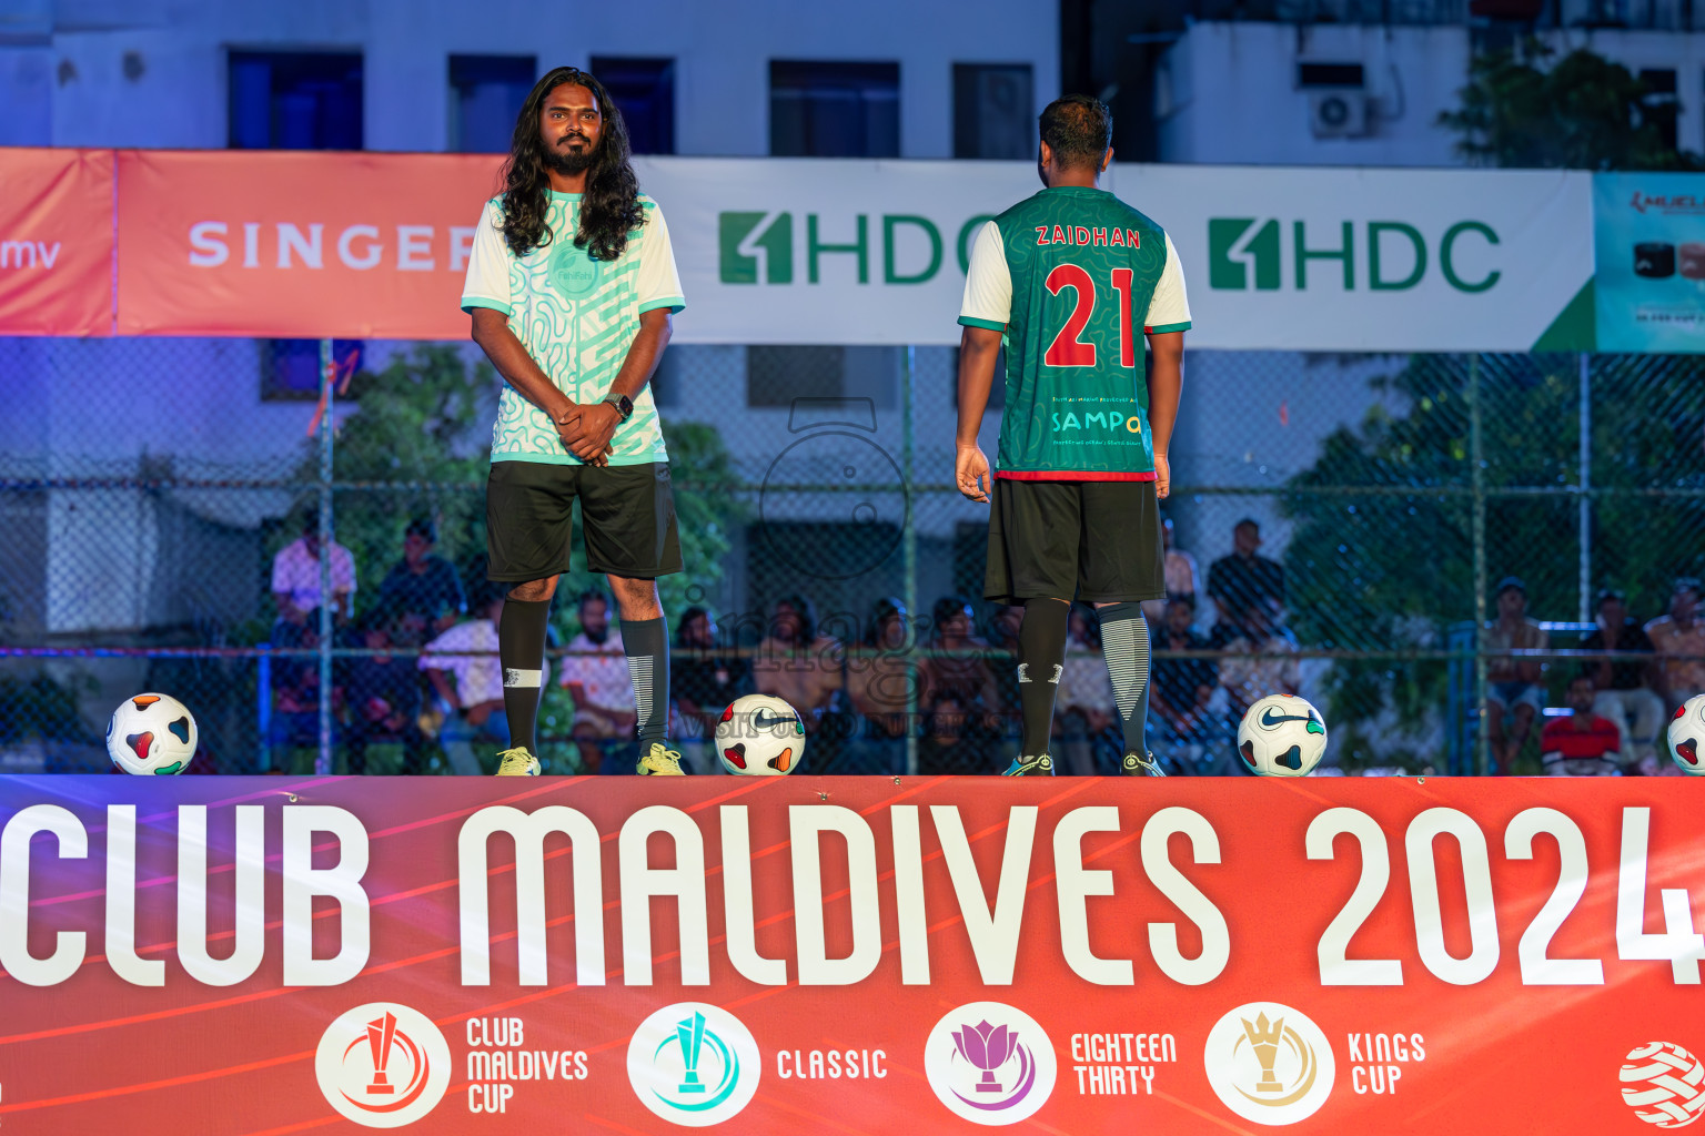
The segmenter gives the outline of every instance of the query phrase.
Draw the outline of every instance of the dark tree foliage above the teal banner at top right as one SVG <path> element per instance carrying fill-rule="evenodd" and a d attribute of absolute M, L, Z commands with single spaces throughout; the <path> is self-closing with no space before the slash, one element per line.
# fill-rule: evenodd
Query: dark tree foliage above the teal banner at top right
<path fill-rule="evenodd" d="M 1439 114 L 1459 135 L 1456 152 L 1475 165 L 1582 170 L 1696 170 L 1695 153 L 1664 145 L 1650 90 L 1628 68 L 1575 49 L 1543 66 L 1552 49 L 1528 41 L 1521 51 L 1475 56 L 1461 107 Z"/>

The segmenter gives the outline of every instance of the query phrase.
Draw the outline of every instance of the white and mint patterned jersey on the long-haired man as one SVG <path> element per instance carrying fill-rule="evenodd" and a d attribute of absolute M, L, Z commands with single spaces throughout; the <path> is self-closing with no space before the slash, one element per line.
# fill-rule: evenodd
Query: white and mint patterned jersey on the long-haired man
<path fill-rule="evenodd" d="M 510 317 L 510 330 L 527 347 L 558 390 L 580 404 L 602 402 L 639 334 L 639 315 L 653 308 L 680 312 L 680 274 L 668 244 L 663 211 L 646 196 L 646 223 L 627 237 L 614 262 L 593 261 L 575 247 L 580 194 L 551 192 L 546 223 L 556 235 L 523 257 L 503 240 L 503 199 L 493 198 L 474 230 L 462 310 L 493 308 Z M 610 465 L 667 462 L 656 404 L 646 385 L 633 416 L 610 438 Z M 551 422 L 551 416 L 505 385 L 491 427 L 493 462 L 581 465 Z"/>

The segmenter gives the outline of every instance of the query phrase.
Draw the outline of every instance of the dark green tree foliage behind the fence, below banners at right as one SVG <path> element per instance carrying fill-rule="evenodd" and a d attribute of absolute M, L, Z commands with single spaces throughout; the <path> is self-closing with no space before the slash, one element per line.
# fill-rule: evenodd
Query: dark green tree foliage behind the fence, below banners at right
<path fill-rule="evenodd" d="M 1439 649 L 1453 627 L 1471 628 L 1471 373 L 1488 593 L 1504 576 L 1521 576 L 1529 615 L 1577 617 L 1579 356 L 1412 356 L 1398 375 L 1376 380 L 1384 404 L 1359 427 L 1328 436 L 1320 460 L 1287 485 L 1284 509 L 1296 521 L 1289 610 L 1303 642 Z M 1705 489 L 1705 359 L 1596 356 L 1591 383 L 1592 588 L 1625 589 L 1630 611 L 1649 620 L 1666 608 L 1678 574 L 1705 571 L 1705 497 L 1686 496 Z M 1565 669 L 1553 668 L 1553 678 Z M 1441 663 L 1333 664 L 1333 748 L 1350 765 L 1391 765 L 1373 720 L 1419 726 L 1444 705 L 1448 674 Z"/>

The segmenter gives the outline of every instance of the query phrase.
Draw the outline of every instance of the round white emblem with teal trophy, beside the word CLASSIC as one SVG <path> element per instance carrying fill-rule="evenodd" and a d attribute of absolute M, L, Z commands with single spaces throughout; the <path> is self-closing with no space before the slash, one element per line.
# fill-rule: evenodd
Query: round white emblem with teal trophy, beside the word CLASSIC
<path fill-rule="evenodd" d="M 656 1116 L 687 1127 L 721 1124 L 752 1102 L 760 1073 L 752 1032 L 701 1001 L 663 1007 L 627 1044 L 627 1080 Z"/>

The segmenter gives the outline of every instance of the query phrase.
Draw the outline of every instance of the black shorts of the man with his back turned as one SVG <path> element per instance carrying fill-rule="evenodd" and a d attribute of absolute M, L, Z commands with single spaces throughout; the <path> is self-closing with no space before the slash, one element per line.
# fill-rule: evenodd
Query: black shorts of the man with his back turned
<path fill-rule="evenodd" d="M 994 479 L 989 574 L 997 603 L 1125 603 L 1166 594 L 1154 482 Z"/>

